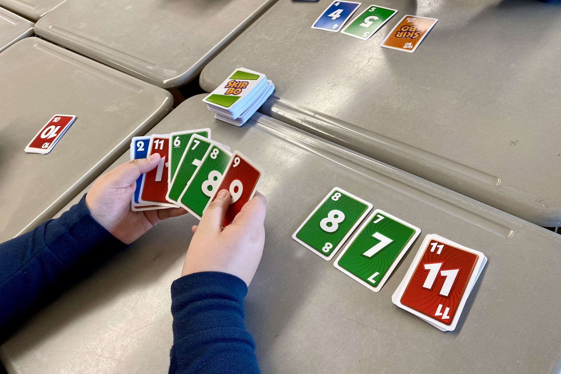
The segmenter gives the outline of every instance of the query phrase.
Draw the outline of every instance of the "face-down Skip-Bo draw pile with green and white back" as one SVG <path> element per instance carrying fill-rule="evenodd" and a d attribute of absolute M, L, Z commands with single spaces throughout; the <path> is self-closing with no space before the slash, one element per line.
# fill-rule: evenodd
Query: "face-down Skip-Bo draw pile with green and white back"
<path fill-rule="evenodd" d="M 275 86 L 265 75 L 245 68 L 234 70 L 203 101 L 214 118 L 241 126 L 263 105 Z"/>

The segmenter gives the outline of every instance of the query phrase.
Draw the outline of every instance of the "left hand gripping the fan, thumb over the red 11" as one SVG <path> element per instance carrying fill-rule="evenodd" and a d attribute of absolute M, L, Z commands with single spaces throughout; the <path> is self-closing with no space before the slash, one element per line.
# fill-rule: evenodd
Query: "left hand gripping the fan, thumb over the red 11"
<path fill-rule="evenodd" d="M 132 211 L 136 179 L 158 165 L 160 155 L 128 161 L 96 179 L 86 195 L 91 216 L 121 242 L 130 244 L 160 220 L 187 213 L 183 208 Z"/>

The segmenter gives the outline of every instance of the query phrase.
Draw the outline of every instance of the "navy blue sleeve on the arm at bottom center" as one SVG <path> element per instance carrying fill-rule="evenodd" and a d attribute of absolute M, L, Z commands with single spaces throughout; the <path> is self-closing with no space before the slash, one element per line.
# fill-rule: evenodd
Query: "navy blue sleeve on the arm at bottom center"
<path fill-rule="evenodd" d="M 246 294 L 243 280 L 215 271 L 172 283 L 170 374 L 259 373 L 255 342 L 243 322 Z"/>

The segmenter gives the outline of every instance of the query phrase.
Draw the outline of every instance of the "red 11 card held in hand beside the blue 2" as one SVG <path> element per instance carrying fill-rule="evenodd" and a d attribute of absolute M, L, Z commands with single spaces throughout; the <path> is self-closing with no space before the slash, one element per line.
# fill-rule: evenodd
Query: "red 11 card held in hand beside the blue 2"
<path fill-rule="evenodd" d="M 140 185 L 139 202 L 159 206 L 177 207 L 165 200 L 168 193 L 169 172 L 169 135 L 154 134 L 150 136 L 148 156 L 159 153 L 158 166 L 144 174 Z"/>

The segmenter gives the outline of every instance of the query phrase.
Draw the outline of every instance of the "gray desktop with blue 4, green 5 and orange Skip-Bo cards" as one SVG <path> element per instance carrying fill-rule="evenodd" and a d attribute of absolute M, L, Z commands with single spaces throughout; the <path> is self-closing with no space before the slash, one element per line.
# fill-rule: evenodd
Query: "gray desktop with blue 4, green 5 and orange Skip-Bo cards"
<path fill-rule="evenodd" d="M 282 1 L 201 73 L 263 72 L 261 112 L 544 226 L 561 225 L 561 3 L 376 1 L 364 41 L 311 29 L 328 6 Z M 363 2 L 357 13 L 370 2 Z M 381 48 L 404 15 L 439 19 L 414 53 Z"/>

